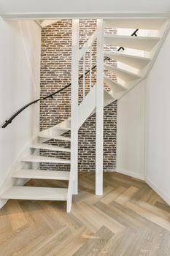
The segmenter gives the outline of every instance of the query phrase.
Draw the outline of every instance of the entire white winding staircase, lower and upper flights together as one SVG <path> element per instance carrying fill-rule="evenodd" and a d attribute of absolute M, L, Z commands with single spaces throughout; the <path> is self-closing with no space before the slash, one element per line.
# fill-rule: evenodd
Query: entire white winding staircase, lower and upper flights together
<path fill-rule="evenodd" d="M 163 18 L 116 18 L 105 20 L 106 27 L 117 29 L 146 29 L 148 34 L 150 30 L 157 32 L 158 36 L 138 36 L 131 37 L 124 34 L 104 34 L 104 43 L 106 45 L 113 45 L 115 48 L 123 46 L 125 51 L 104 51 L 104 56 L 109 57 L 113 61 L 117 61 L 117 66 L 114 66 L 107 61 L 104 63 L 104 70 L 109 71 L 112 75 L 116 76 L 113 80 L 112 76 L 108 73 L 104 75 L 104 84 L 107 84 L 110 91 L 104 89 L 104 106 L 109 105 L 111 102 L 120 99 L 125 93 L 141 81 L 147 71 L 152 67 L 152 61 L 158 53 L 161 45 L 161 39 L 166 33 L 167 21 Z M 147 34 L 146 31 L 146 34 Z M 151 31 L 152 32 L 152 31 Z M 152 33 L 151 33 L 152 34 Z M 131 53 L 132 50 L 132 53 Z M 80 110 L 80 126 L 91 114 L 95 113 L 95 86 L 85 97 L 79 106 Z M 91 104 L 93 102 L 93 104 Z M 82 111 L 83 110 L 83 111 Z M 34 164 L 39 165 L 41 162 L 56 163 L 63 165 L 70 165 L 71 159 L 57 159 L 55 157 L 42 157 L 39 155 L 39 149 L 50 151 L 62 151 L 71 153 L 72 148 L 63 148 L 60 146 L 52 146 L 47 144 L 49 140 L 67 141 L 70 142 L 71 138 L 66 137 L 64 133 L 71 129 L 71 118 L 63 121 L 61 124 L 39 132 L 37 138 L 29 146 L 31 154 L 26 155 L 20 159 L 23 167 L 19 170 L 12 172 L 13 179 L 53 179 L 65 180 L 70 182 L 70 174 L 66 171 L 50 171 L 39 170 L 35 168 Z M 26 167 L 28 165 L 28 167 Z M 67 188 L 47 188 L 47 187 L 23 187 L 15 185 L 10 187 L 1 194 L 1 199 L 26 199 L 26 200 L 67 200 Z M 68 203 L 68 202 L 67 202 Z M 67 208 L 70 211 L 70 208 Z"/>

